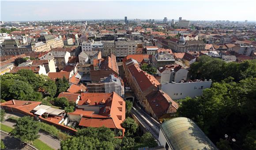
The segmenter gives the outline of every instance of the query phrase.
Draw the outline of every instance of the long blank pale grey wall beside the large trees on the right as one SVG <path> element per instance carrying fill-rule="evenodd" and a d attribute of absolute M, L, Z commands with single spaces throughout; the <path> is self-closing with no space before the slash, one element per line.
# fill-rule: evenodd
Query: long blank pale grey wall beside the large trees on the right
<path fill-rule="evenodd" d="M 186 82 L 162 84 L 162 91 L 166 92 L 172 99 L 184 99 L 187 96 L 195 98 L 203 93 L 203 89 L 210 88 L 211 81 Z"/>

